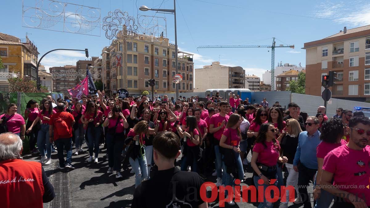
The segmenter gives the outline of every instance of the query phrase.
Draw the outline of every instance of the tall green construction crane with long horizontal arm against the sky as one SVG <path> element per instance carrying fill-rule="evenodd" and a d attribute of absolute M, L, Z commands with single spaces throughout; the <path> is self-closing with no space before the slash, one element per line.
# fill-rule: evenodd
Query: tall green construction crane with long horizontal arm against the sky
<path fill-rule="evenodd" d="M 294 48 L 294 45 L 275 45 L 275 38 L 272 45 L 236 45 L 236 46 L 199 46 L 198 48 L 271 48 L 271 91 L 275 90 L 275 48 Z"/>

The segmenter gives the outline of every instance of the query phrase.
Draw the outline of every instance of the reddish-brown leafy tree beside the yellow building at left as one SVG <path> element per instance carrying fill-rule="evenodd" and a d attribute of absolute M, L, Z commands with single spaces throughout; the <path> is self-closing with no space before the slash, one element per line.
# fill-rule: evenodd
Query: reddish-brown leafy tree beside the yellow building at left
<path fill-rule="evenodd" d="M 46 87 L 41 87 L 37 90 L 36 81 L 28 80 L 27 77 L 12 77 L 8 79 L 9 93 L 47 93 Z"/>

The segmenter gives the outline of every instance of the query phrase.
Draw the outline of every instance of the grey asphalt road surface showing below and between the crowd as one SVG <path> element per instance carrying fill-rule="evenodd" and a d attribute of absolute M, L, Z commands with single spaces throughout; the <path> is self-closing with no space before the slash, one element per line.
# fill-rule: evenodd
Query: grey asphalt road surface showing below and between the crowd
<path fill-rule="evenodd" d="M 44 166 L 47 175 L 51 182 L 53 175 L 62 171 L 68 172 L 68 182 L 70 190 L 70 205 L 73 208 L 92 208 L 92 207 L 114 207 L 124 208 L 131 207 L 131 201 L 135 190 L 135 174 L 130 174 L 131 167 L 122 172 L 123 178 L 116 179 L 115 174 L 107 174 L 108 161 L 105 160 L 107 150 L 100 146 L 100 154 L 98 163 L 88 163 L 88 149 L 86 144 L 83 145 L 84 152 L 77 156 L 72 156 L 72 162 L 76 169 L 74 170 L 59 170 L 57 162 L 52 162 L 51 165 Z M 73 150 L 74 152 L 74 150 Z M 250 160 L 251 155 L 248 155 Z M 40 155 L 24 155 L 24 160 L 40 160 Z M 51 155 L 53 161 L 58 161 L 57 154 Z M 179 158 L 178 158 L 179 160 Z M 179 162 L 176 163 L 179 165 Z M 252 181 L 252 168 L 250 165 L 245 165 L 246 179 L 241 185 L 254 185 Z M 207 176 L 206 181 L 216 182 L 216 177 Z M 312 185 L 312 184 L 311 184 Z M 312 192 L 312 188 L 308 190 Z M 217 199 L 218 200 L 218 199 Z M 51 207 L 51 202 L 44 204 L 44 208 Z M 237 202 L 235 208 L 250 208 L 257 207 L 258 203 Z M 303 207 L 303 205 L 295 205 L 289 203 L 289 208 Z M 55 206 L 54 206 L 55 207 Z M 155 206 L 154 206 L 155 207 Z M 218 201 L 209 204 L 209 207 L 219 207 Z M 225 204 L 225 207 L 228 207 Z M 274 207 L 279 207 L 279 202 L 274 204 Z"/>

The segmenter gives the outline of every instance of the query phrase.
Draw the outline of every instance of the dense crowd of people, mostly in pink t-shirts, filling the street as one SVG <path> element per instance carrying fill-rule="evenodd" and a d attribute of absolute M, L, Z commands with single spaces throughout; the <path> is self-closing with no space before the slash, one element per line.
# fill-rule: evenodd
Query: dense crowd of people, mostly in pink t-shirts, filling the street
<path fill-rule="evenodd" d="M 40 104 L 30 100 L 24 116 L 10 104 L 0 115 L 0 132 L 8 132 L 0 135 L 0 190 L 1 182 L 14 176 L 3 174 L 4 164 L 19 165 L 9 161 L 20 158 L 19 144 L 26 135 L 31 154 L 41 155 L 41 160 L 31 165 L 42 175 L 41 165 L 51 164 L 53 152 L 57 152 L 60 169 L 74 169 L 72 155 L 79 154 L 89 154 L 86 162 L 107 160 L 107 173 L 114 172 L 117 179 L 123 177 L 122 168 L 131 166 L 135 174 L 132 207 L 151 207 L 153 200 L 169 207 L 174 202 L 172 195 L 155 198 L 148 191 L 155 186 L 166 191 L 171 180 L 179 181 L 176 199 L 181 198 L 178 194 L 186 194 L 186 186 L 196 187 L 199 195 L 201 184 L 212 181 L 211 175 L 216 177 L 212 182 L 217 187 L 236 187 L 246 180 L 244 170 L 249 165 L 255 187 L 263 186 L 265 192 L 276 186 L 283 191 L 280 208 L 287 207 L 291 198 L 305 208 L 311 207 L 312 198 L 316 208 L 329 207 L 333 201 L 332 207 L 370 206 L 366 188 L 370 121 L 363 113 L 338 108 L 328 118 L 326 108 L 319 106 L 316 115 L 308 115 L 296 103 L 283 109 L 279 102 L 270 107 L 264 98 L 252 104 L 249 98 L 242 100 L 231 93 L 228 99 L 216 94 L 200 100 L 167 95 L 154 100 L 146 95 L 121 99 L 97 91 L 81 100 L 68 96 L 56 101 L 47 96 Z M 107 154 L 101 156 L 100 148 L 106 148 Z M 10 157 L 2 151 L 13 153 Z M 180 170 L 175 167 L 179 155 Z M 47 177 L 42 179 L 47 181 Z M 47 182 L 37 182 L 50 187 Z M 313 197 L 307 192 L 310 182 Z M 294 186 L 296 193 L 282 186 Z M 44 201 L 51 198 L 50 188 L 42 194 L 46 193 Z M 225 191 L 226 202 L 235 205 L 237 195 L 240 197 L 240 189 Z M 185 201 L 208 207 L 201 197 Z M 273 207 L 265 194 L 259 202 L 259 208 Z"/>

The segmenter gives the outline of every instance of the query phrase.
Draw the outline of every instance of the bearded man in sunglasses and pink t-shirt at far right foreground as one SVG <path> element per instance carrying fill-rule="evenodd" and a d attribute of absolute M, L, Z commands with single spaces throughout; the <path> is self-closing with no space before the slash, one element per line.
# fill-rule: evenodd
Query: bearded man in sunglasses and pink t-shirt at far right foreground
<path fill-rule="evenodd" d="M 346 130 L 350 133 L 349 142 L 325 156 L 320 184 L 316 184 L 316 188 L 335 196 L 332 208 L 366 208 L 370 206 L 370 191 L 366 188 L 370 171 L 370 148 L 367 146 L 370 120 L 352 117 Z"/>

